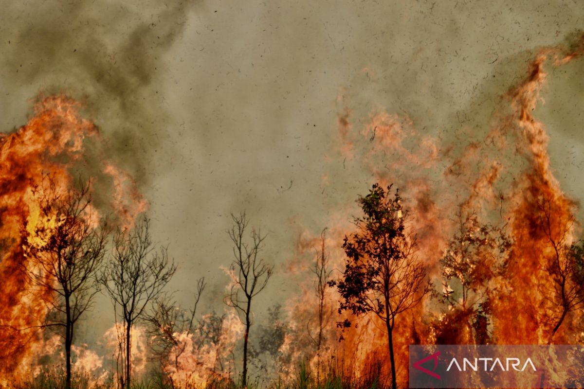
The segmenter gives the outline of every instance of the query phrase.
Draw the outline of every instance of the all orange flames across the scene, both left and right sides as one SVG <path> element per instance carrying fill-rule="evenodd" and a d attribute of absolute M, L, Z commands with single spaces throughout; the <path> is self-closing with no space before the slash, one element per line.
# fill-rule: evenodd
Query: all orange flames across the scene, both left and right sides
<path fill-rule="evenodd" d="M 561 66 L 582 54 L 584 38 L 570 49 L 538 52 L 527 76 L 505 93 L 507 106 L 485 142 L 467 145 L 457 157 L 449 145 L 420 134 L 408 117 L 374 113 L 361 131 L 354 131 L 351 110 L 343 108 L 337 152 L 343 159 L 361 158 L 359 163 L 371 171 L 377 183 L 399 184 L 404 209 L 412 216 L 406 229 L 419 243 L 415 255 L 434 283 L 431 295 L 397 318 L 393 342 L 398 381 L 408 380 L 406 361 L 411 344 L 571 344 L 582 336 L 582 310 L 576 307 L 584 297 L 571 273 L 574 265 L 569 251 L 580 232 L 575 218 L 578 206 L 562 192 L 552 173 L 548 135 L 533 115 L 545 85 L 545 66 Z M 57 338 L 43 337 L 39 331 L 46 324 L 46 302 L 55 296 L 50 290 L 33 288 L 23 272 L 32 266 L 25 247 L 43 247 L 63 222 L 56 214 L 41 212 L 38 192 L 50 189 L 57 196 L 67 194 L 74 186 L 72 171 L 83 162 L 88 138 L 99 140 L 98 129 L 81 117 L 77 102 L 64 96 L 40 99 L 25 126 L 0 135 L 2 385 L 24 376 L 31 366 L 37 367 L 39 356 L 62 352 Z M 366 150 L 360 153 L 363 144 Z M 509 153 L 521 157 L 519 167 L 506 159 Z M 120 227 L 131 229 L 147 202 L 131 176 L 112 162 L 103 163 L 100 174 L 100 180 L 109 180 L 112 204 L 108 210 Z M 432 177 L 440 177 L 446 185 Z M 505 184 L 507 178 L 512 186 L 509 181 Z M 88 208 L 85 217 L 97 227 L 103 211 Z M 373 315 L 339 315 L 341 296 L 335 289 L 322 288 L 342 273 L 346 255 L 340 243 L 352 232 L 354 226 L 347 216 L 355 212 L 354 207 L 347 208 L 333 216 L 326 236 L 305 232 L 298 239 L 288 269 L 307 274 L 314 255 L 321 255 L 322 262 L 317 262 L 313 272 L 322 279 L 317 283 L 310 279 L 286 303 L 287 324 L 282 327 L 286 333 L 274 362 L 284 377 L 292 377 L 306 359 L 317 377 L 331 369 L 354 379 L 390 374 L 385 332 L 389 327 Z M 408 213 L 400 209 L 398 218 L 405 215 Z M 497 242 L 505 244 L 497 246 Z M 460 250 L 452 249 L 456 244 Z M 462 270 L 446 265 L 448 261 L 464 265 L 464 255 L 478 261 Z M 236 281 L 232 270 L 224 271 Z M 467 284 L 472 298 L 453 297 Z M 337 328 L 337 322 L 351 326 Z M 168 329 L 159 330 L 164 334 Z M 132 331 L 133 370 L 140 374 L 148 367 L 148 341 L 152 339 L 144 328 L 133 327 Z M 213 380 L 232 379 L 235 369 L 230 356 L 243 332 L 237 314 L 204 315 L 198 327 L 167 332 L 171 332 L 166 335 L 172 345 L 165 349 L 161 362 L 173 383 L 205 386 Z M 116 326 L 106 333 L 108 349 L 117 349 L 119 334 Z M 75 346 L 74 352 L 79 369 L 105 380 L 105 373 L 99 370 L 105 366 L 103 356 L 87 346 Z M 38 368 L 32 370 L 33 374 L 39 372 Z"/>

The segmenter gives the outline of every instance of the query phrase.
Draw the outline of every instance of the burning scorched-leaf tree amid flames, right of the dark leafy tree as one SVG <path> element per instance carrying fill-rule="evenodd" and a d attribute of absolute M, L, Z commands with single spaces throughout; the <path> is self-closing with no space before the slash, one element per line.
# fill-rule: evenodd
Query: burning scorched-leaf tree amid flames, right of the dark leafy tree
<path fill-rule="evenodd" d="M 484 344 L 488 339 L 489 298 L 499 285 L 493 281 L 505 272 L 511 242 L 502 228 L 479 222 L 477 213 L 463 206 L 457 212 L 457 222 L 456 233 L 440 260 L 444 282 L 437 297 L 448 305 L 453 325 L 466 327 L 466 336 L 457 335 L 456 343 Z M 453 340 L 449 337 L 444 341 Z"/>

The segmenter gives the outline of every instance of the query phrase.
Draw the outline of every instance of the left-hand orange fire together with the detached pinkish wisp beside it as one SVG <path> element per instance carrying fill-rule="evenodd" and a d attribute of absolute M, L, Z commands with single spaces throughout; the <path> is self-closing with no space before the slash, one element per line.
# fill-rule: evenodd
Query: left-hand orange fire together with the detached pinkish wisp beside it
<path fill-rule="evenodd" d="M 36 192 L 48 189 L 50 181 L 53 185 L 50 190 L 55 196 L 66 194 L 75 181 L 71 171 L 82 162 L 85 139 L 99 140 L 98 129 L 81 117 L 80 107 L 77 101 L 65 96 L 40 97 L 26 125 L 11 134 L 0 135 L 0 277 L 3 286 L 0 294 L 0 377 L 24 376 L 27 369 L 36 365 L 36 358 L 47 351 L 39 329 L 48 313 L 47 304 L 43 302 L 54 296 L 47 290 L 31 288 L 31 281 L 23 272 L 29 266 L 23 243 L 26 240 L 29 245 L 42 246 L 60 223 L 56 215 L 41 217 Z M 128 225 L 145 209 L 145 202 L 127 173 L 111 163 L 107 163 L 103 171 L 114 181 L 116 195 L 112 208 L 117 211 L 121 223 Z M 131 196 L 123 197 L 124 190 L 129 190 Z M 99 218 L 96 209 L 86 211 L 88 217 Z M 39 226 L 43 228 L 35 228 Z M 35 231 L 43 231 L 43 234 Z M 93 353 L 87 351 L 84 355 L 95 362 Z"/>

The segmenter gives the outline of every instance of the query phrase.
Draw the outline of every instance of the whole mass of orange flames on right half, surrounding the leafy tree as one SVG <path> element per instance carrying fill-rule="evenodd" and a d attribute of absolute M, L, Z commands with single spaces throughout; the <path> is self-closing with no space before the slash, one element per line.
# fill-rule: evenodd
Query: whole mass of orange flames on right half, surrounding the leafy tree
<path fill-rule="evenodd" d="M 503 96 L 508 106 L 498 113 L 498 124 L 485 141 L 470 143 L 456 158 L 451 158 L 453 147 L 420 135 L 408 117 L 374 113 L 369 123 L 357 132 L 352 131 L 350 108 L 343 108 L 339 115 L 340 157 L 360 157 L 359 163 L 369 168 L 376 182 L 399 185 L 405 194 L 406 208 L 415 218 L 409 228 L 418 234 L 417 255 L 426 264 L 427 275 L 437 290 L 443 288 L 440 258 L 456 230 L 456 222 L 451 218 L 457 210 L 475 213 L 479 223 L 492 223 L 510 239 L 509 251 L 499 258 L 506 263 L 505 276 L 482 275 L 484 298 L 489 304 L 488 317 L 482 324 L 488 333 L 486 342 L 570 344 L 578 342 L 578 334 L 582 332 L 582 310 L 562 310 L 557 297 L 561 291 L 558 286 L 554 287 L 560 271 L 550 270 L 554 266 L 556 269 L 569 266 L 569 258 L 562 250 L 578 239 L 579 225 L 575 218 L 578 206 L 559 187 L 550 167 L 545 125 L 533 116 L 542 101 L 540 92 L 547 75 L 544 66 L 561 66 L 582 54 L 584 38 L 569 49 L 541 50 L 531 62 L 526 78 Z M 366 151 L 359 154 L 359 145 L 366 145 L 363 146 Z M 506 159 L 516 153 L 523 159 L 519 167 Z M 449 187 L 436 183 L 435 177 L 443 177 Z M 504 184 L 510 181 L 515 184 L 511 187 Z M 339 252 L 340 242 L 353 227 L 339 220 L 350 220 L 349 215 L 355 213 L 357 209 L 353 206 L 351 211 L 335 215 L 328 225 L 335 233 L 326 247 L 331 253 L 332 267 L 340 271 L 345 261 L 344 253 Z M 316 241 L 317 237 L 310 233 L 304 233 L 298 240 L 298 251 L 291 262 L 296 271 L 303 271 L 308 261 L 314 261 L 311 257 Z M 489 263 L 486 257 L 484 261 Z M 302 330 L 303 323 L 314 320 L 316 314 L 317 302 L 310 293 L 309 283 L 303 288 L 302 296 L 293 297 L 287 303 L 290 320 L 296 323 L 298 331 L 290 344 L 307 337 L 307 331 Z M 335 291 L 331 293 L 333 302 L 339 300 Z M 436 297 L 428 296 L 414 310 L 399 317 L 397 334 L 394 334 L 398 382 L 407 381 L 409 344 L 477 342 L 478 335 L 464 325 L 463 316 L 468 311 L 441 311 L 437 306 Z M 337 330 L 336 336 L 328 339 L 329 360 L 336 360 L 335 363 L 340 363 L 339 370 L 345 369 L 356 379 L 367 376 L 377 361 L 382 376 L 387 379 L 390 362 L 383 323 L 374 316 L 357 319 L 346 314 L 335 315 L 334 320 L 340 322 L 345 318 L 357 326 Z M 294 352 L 296 361 L 306 353 L 313 356 L 314 371 L 329 369 L 315 362 L 315 350 L 310 346 Z"/>

